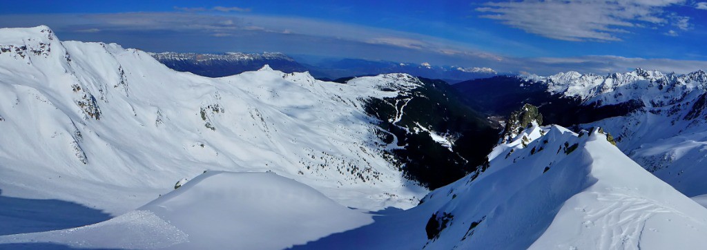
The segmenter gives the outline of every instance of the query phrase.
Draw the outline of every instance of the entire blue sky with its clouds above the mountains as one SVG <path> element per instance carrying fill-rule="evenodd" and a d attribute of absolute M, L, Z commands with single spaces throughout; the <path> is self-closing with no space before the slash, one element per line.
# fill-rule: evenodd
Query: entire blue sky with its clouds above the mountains
<path fill-rule="evenodd" d="M 0 8 L 0 27 L 40 24 L 62 40 L 151 52 L 267 51 L 541 74 L 707 68 L 701 0 L 9 1 Z"/>

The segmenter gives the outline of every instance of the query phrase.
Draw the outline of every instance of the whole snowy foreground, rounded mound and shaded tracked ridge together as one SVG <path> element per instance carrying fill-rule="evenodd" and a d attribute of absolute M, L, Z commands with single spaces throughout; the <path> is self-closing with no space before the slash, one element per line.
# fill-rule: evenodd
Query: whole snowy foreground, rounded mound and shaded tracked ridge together
<path fill-rule="evenodd" d="M 484 169 L 404 211 L 350 210 L 276 174 L 206 172 L 112 220 L 0 236 L 0 242 L 131 249 L 696 249 L 707 244 L 702 237 L 707 209 L 626 157 L 601 129 L 578 134 L 532 121 L 488 159 Z"/>

